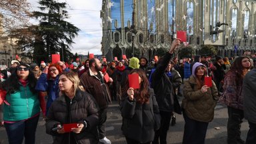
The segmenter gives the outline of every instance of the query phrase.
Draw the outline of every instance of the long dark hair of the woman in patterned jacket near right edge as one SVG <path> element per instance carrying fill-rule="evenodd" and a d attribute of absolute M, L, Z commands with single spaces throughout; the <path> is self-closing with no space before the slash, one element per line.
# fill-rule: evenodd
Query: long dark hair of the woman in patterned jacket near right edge
<path fill-rule="evenodd" d="M 250 58 L 246 57 L 246 56 L 237 57 L 235 59 L 235 61 L 232 63 L 229 71 L 227 72 L 227 73 L 235 73 L 237 82 L 239 82 L 239 81 L 243 82 L 243 69 L 245 69 L 245 67 L 243 67 L 243 65 L 242 65 L 243 59 L 249 59 L 249 61 L 250 61 Z"/>

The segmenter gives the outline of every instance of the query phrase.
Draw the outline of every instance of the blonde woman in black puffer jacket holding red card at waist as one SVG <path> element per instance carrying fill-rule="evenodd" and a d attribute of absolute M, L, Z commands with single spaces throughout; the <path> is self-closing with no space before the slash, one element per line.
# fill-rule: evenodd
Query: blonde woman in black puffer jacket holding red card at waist
<path fill-rule="evenodd" d="M 46 119 L 46 132 L 53 135 L 53 143 L 97 144 L 98 107 L 89 93 L 79 89 L 79 78 L 76 73 L 65 72 L 59 77 L 60 95 L 49 109 Z M 71 132 L 61 126 L 77 123 Z M 57 127 L 56 131 L 53 128 Z"/>

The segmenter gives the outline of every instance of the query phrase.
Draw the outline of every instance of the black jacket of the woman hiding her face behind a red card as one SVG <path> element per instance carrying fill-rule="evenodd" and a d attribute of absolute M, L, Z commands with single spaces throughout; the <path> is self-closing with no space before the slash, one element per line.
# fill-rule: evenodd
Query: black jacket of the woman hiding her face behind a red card
<path fill-rule="evenodd" d="M 153 141 L 155 135 L 155 119 L 160 117 L 153 89 L 150 89 L 149 99 L 149 104 L 140 104 L 136 100 L 129 101 L 127 97 L 121 104 L 121 115 L 123 117 L 122 131 L 125 137 L 129 137 L 140 143 Z"/>

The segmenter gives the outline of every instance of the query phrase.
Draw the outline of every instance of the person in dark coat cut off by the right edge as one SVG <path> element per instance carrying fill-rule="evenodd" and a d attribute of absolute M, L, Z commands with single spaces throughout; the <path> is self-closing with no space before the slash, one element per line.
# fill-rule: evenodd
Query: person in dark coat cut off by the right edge
<path fill-rule="evenodd" d="M 243 113 L 249 123 L 246 144 L 256 143 L 256 68 L 249 71 L 243 79 Z"/>

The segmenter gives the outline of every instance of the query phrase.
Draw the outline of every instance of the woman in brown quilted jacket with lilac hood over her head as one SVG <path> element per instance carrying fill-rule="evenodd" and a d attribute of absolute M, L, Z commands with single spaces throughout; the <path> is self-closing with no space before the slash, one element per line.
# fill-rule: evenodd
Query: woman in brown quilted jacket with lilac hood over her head
<path fill-rule="evenodd" d="M 205 135 L 210 121 L 213 120 L 214 108 L 219 99 L 217 87 L 205 85 L 207 68 L 202 63 L 195 63 L 192 75 L 184 83 L 182 101 L 185 120 L 183 144 L 205 143 Z"/>

